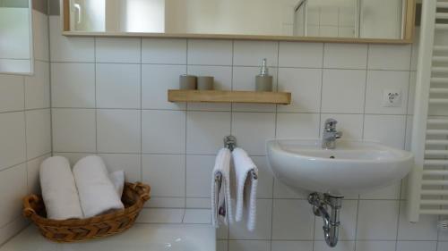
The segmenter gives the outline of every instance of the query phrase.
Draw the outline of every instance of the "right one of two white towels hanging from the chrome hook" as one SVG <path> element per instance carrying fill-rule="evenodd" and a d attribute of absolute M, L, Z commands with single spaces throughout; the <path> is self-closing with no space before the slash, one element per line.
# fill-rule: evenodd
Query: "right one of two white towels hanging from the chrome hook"
<path fill-rule="evenodd" d="M 247 230 L 252 231 L 255 229 L 256 187 L 258 183 L 256 177 L 258 177 L 258 168 L 245 150 L 235 148 L 232 155 L 237 182 L 237 211 L 235 213 L 235 221 L 241 222 L 243 218 L 246 218 Z M 244 211 L 246 211 L 246 215 L 244 215 Z"/>

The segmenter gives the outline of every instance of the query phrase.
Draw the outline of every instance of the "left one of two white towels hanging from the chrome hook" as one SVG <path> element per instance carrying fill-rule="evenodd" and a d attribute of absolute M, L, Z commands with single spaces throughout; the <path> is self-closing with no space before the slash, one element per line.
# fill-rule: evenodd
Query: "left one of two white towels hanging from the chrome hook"
<path fill-rule="evenodd" d="M 219 228 L 221 222 L 226 225 L 233 222 L 229 180 L 230 158 L 228 148 L 220 149 L 211 177 L 211 222 L 215 228 Z M 220 177 L 220 180 L 216 180 L 217 177 Z"/>

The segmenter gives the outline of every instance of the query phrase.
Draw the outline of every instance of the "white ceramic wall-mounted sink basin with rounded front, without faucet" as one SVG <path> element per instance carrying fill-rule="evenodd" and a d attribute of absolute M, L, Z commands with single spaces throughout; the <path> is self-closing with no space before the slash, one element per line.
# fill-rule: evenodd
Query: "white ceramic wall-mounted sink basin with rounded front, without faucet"
<path fill-rule="evenodd" d="M 292 188 L 331 195 L 365 193 L 408 174 L 413 155 L 375 142 L 338 140 L 323 149 L 321 139 L 274 139 L 266 144 L 271 170 Z"/>

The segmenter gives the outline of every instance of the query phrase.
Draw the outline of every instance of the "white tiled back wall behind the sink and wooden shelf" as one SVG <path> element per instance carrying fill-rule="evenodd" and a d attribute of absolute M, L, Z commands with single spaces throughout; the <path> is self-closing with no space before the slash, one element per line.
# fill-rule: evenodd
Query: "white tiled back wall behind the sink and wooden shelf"
<path fill-rule="evenodd" d="M 257 229 L 235 224 L 219 230 L 219 250 L 330 250 L 306 193 L 272 177 L 265 139 L 319 138 L 322 122 L 334 117 L 344 138 L 405 147 L 415 79 L 412 46 L 65 38 L 59 25 L 59 17 L 51 16 L 55 155 L 72 162 L 102 155 L 111 169 L 125 169 L 128 180 L 151 184 L 151 208 L 208 208 L 214 155 L 228 134 L 254 157 L 262 180 Z M 185 72 L 211 74 L 220 89 L 254 88 L 264 57 L 275 88 L 292 91 L 292 105 L 167 102 L 167 89 L 177 88 Z M 383 107 L 383 88 L 401 89 L 403 105 Z M 437 218 L 406 222 L 401 194 L 397 183 L 347 195 L 334 250 L 444 250 L 446 243 L 437 240 L 448 236 L 435 229 Z"/>

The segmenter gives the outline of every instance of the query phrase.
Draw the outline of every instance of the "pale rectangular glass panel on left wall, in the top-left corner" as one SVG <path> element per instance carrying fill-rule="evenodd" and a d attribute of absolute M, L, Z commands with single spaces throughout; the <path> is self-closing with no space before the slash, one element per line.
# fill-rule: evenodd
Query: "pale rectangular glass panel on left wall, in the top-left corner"
<path fill-rule="evenodd" d="M 0 0 L 0 38 L 0 73 L 32 73 L 31 0 Z"/>

